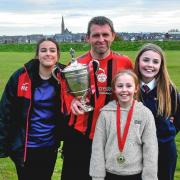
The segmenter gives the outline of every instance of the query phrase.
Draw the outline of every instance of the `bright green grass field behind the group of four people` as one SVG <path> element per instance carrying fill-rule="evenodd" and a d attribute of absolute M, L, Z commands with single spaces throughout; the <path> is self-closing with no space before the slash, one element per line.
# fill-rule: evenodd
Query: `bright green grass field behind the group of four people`
<path fill-rule="evenodd" d="M 134 51 L 121 52 L 128 55 L 132 60 L 136 56 Z M 83 54 L 77 52 L 76 56 Z M 172 81 L 176 84 L 180 91 L 180 51 L 166 51 L 167 66 Z M 17 52 L 0 52 L 0 97 L 2 95 L 5 84 L 10 75 L 19 67 L 21 67 L 29 59 L 33 58 L 33 53 L 17 53 Z M 61 62 L 67 64 L 70 60 L 69 53 L 61 54 Z M 180 156 L 180 134 L 176 137 L 178 155 Z M 62 160 L 60 154 L 57 159 L 52 180 L 59 180 L 61 173 Z M 178 157 L 175 180 L 180 179 L 180 157 Z M 0 180 L 17 180 L 15 168 L 8 159 L 0 159 Z"/>

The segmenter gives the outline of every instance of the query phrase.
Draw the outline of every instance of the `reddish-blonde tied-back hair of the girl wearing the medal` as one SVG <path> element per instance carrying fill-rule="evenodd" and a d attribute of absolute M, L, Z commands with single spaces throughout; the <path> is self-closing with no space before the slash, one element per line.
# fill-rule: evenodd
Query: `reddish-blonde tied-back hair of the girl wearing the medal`
<path fill-rule="evenodd" d="M 122 69 L 114 76 L 114 78 L 112 79 L 112 82 L 111 82 L 112 91 L 114 92 L 114 90 L 115 90 L 115 84 L 116 84 L 116 81 L 119 78 L 119 76 L 124 75 L 124 74 L 128 74 L 133 78 L 135 87 L 137 89 L 137 92 L 134 94 L 134 99 L 138 100 L 139 99 L 139 89 L 140 89 L 139 88 L 139 79 L 138 79 L 137 75 L 135 74 L 135 72 L 131 69 Z"/>

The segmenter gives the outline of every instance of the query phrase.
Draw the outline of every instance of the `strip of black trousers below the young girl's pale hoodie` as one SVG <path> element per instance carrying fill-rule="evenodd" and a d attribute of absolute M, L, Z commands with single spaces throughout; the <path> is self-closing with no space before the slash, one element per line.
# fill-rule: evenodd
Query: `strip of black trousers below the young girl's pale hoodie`
<path fill-rule="evenodd" d="M 142 180 L 141 174 L 121 176 L 106 172 L 105 180 Z"/>

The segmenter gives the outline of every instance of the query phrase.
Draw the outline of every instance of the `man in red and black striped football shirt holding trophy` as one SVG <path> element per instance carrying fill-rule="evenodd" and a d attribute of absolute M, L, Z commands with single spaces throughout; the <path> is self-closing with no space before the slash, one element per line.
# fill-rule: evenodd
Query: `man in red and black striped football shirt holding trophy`
<path fill-rule="evenodd" d="M 91 97 L 89 102 L 94 110 L 84 112 L 77 98 L 71 101 L 68 135 L 65 137 L 64 163 L 61 180 L 89 180 L 89 163 L 91 144 L 100 109 L 112 98 L 111 79 L 122 68 L 132 69 L 128 57 L 110 50 L 115 38 L 113 23 L 104 16 L 94 17 L 88 24 L 87 42 L 91 45 L 89 52 L 78 58 L 78 62 L 89 64 Z M 96 63 L 99 62 L 99 70 Z M 92 66 L 90 65 L 92 64 Z M 66 98 L 67 103 L 69 99 Z"/>

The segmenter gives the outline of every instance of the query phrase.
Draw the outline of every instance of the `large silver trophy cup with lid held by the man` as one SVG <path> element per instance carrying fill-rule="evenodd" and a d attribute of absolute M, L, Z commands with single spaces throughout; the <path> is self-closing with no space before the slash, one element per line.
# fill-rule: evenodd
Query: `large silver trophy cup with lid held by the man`
<path fill-rule="evenodd" d="M 75 97 L 80 97 L 80 101 L 83 105 L 83 110 L 89 112 L 93 110 L 93 107 L 88 105 L 86 102 L 86 97 L 90 93 L 90 80 L 89 80 L 89 71 L 87 64 L 78 63 L 75 59 L 75 51 L 71 48 L 70 54 L 72 57 L 70 65 L 68 65 L 63 70 L 60 70 L 63 76 L 66 79 L 68 86 L 68 92 L 73 94 Z M 99 65 L 99 64 L 98 64 Z M 52 75 L 58 80 L 55 75 L 55 70 L 57 66 L 53 69 Z"/>

